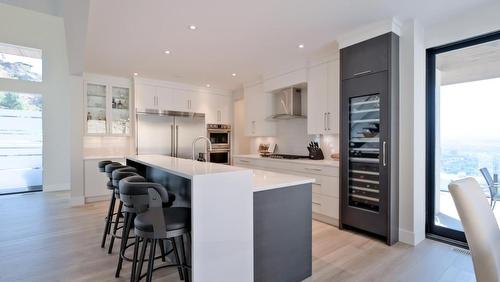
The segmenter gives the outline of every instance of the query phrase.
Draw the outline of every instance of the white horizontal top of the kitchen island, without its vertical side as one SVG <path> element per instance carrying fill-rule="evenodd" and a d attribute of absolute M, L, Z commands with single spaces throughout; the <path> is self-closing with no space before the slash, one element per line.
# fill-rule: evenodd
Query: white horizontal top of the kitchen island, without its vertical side
<path fill-rule="evenodd" d="M 241 167 L 198 162 L 189 159 L 174 158 L 164 155 L 135 155 L 127 156 L 126 158 L 131 161 L 151 166 L 188 179 L 193 179 L 193 176 L 196 175 L 223 174 L 227 172 L 250 170 Z M 313 183 L 314 181 L 314 178 L 309 177 L 253 169 L 252 189 L 253 192 L 259 192 L 270 189 Z"/>

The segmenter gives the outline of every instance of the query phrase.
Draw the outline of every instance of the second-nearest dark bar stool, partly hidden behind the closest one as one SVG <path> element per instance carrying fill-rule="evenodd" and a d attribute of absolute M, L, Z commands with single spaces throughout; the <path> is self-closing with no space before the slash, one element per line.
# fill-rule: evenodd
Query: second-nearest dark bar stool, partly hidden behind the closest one
<path fill-rule="evenodd" d="M 123 260 L 132 261 L 125 256 L 125 251 L 128 247 L 135 244 L 132 243 L 128 245 L 128 239 L 130 239 L 130 230 L 133 228 L 133 220 L 138 212 L 147 210 L 148 207 L 148 187 L 151 185 L 157 185 L 156 183 L 147 183 L 146 180 L 133 172 L 126 172 L 122 169 L 113 171 L 113 180 L 119 181 L 119 192 L 120 200 L 123 203 L 123 213 L 124 213 L 124 227 L 122 229 L 122 242 L 120 245 L 120 255 L 118 258 L 118 265 L 116 267 L 115 277 L 120 276 L 120 271 L 122 268 Z M 175 194 L 171 192 L 168 193 L 168 202 L 163 203 L 163 207 L 171 207 L 175 201 Z M 125 238 L 125 239 L 123 239 Z M 165 261 L 165 248 L 163 242 L 159 242 L 162 260 Z M 170 253 L 170 252 L 169 252 Z"/>

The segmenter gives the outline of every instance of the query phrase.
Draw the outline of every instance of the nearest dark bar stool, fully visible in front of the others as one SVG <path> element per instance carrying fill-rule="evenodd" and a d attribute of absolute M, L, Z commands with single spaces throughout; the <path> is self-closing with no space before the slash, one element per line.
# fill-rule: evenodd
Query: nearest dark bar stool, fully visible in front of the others
<path fill-rule="evenodd" d="M 183 236 L 189 236 L 191 231 L 191 209 L 184 207 L 164 208 L 162 202 L 168 202 L 168 194 L 165 193 L 165 187 L 156 184 L 148 187 L 149 206 L 147 211 L 138 213 L 134 220 L 134 232 L 136 245 L 134 247 L 134 258 L 132 268 L 135 270 L 134 281 L 139 281 L 146 276 L 146 281 L 150 282 L 153 278 L 153 271 L 166 267 L 177 267 L 181 280 L 188 281 L 189 273 L 186 262 L 185 245 Z M 142 248 L 137 263 L 139 240 L 142 238 Z M 182 261 L 179 259 L 176 240 L 180 240 L 180 253 Z M 170 241 L 176 257 L 176 263 L 165 264 L 154 268 L 154 256 L 156 244 L 159 241 Z M 148 243 L 151 243 L 149 249 L 148 268 L 145 275 L 141 276 L 142 265 L 146 254 Z M 135 277 L 135 278 L 134 278 Z"/>

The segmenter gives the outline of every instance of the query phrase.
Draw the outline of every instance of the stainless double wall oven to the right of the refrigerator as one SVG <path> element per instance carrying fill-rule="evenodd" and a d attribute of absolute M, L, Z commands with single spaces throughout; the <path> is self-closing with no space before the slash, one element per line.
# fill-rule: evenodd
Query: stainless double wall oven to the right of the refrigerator
<path fill-rule="evenodd" d="M 231 125 L 207 124 L 207 137 L 212 142 L 212 151 L 208 153 L 208 161 L 231 164 Z"/>

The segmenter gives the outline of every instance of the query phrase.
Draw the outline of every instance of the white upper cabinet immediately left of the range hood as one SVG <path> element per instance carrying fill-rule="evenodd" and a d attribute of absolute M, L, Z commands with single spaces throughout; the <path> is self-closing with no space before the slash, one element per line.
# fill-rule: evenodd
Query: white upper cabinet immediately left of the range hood
<path fill-rule="evenodd" d="M 274 136 L 276 123 L 267 120 L 272 114 L 272 95 L 265 93 L 262 83 L 246 87 L 245 98 L 245 135 Z"/>

